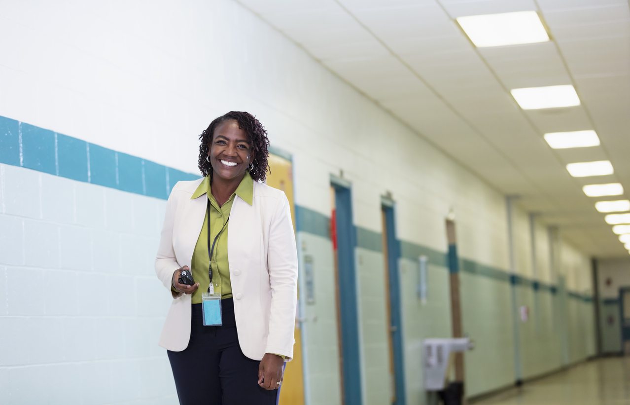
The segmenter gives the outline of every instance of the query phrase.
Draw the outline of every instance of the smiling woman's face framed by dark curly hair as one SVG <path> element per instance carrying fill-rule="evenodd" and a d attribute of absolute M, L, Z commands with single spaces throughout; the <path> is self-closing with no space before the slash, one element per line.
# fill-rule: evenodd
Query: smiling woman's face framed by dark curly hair
<path fill-rule="evenodd" d="M 224 180 L 243 177 L 247 166 L 254 160 L 247 134 L 236 120 L 228 120 L 214 130 L 208 156 L 215 177 Z"/>

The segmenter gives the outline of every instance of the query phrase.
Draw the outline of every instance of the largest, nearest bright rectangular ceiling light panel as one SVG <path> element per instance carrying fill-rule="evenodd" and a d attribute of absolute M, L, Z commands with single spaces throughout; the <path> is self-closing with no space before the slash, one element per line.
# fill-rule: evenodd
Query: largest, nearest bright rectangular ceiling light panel
<path fill-rule="evenodd" d="M 549 40 L 536 11 L 458 17 L 457 22 L 478 48 Z"/>

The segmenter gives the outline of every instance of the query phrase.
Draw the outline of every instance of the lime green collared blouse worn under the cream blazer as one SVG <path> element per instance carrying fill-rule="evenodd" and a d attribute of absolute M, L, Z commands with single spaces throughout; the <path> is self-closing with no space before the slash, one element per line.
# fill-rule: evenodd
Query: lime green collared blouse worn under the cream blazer
<path fill-rule="evenodd" d="M 210 199 L 210 243 L 214 241 L 214 238 L 217 237 L 217 234 L 221 232 L 221 228 L 225 225 L 223 232 L 217 239 L 214 252 L 212 252 L 212 283 L 214 283 L 214 292 L 221 293 L 221 299 L 230 298 L 232 296 L 232 285 L 230 283 L 230 266 L 227 261 L 227 228 L 229 228 L 229 223 L 226 225 L 226 221 L 229 218 L 235 196 L 241 197 L 249 205 L 252 204 L 254 180 L 246 172 L 234 194 L 221 207 L 219 207 L 219 203 L 210 190 L 209 176 L 202 180 L 190 198 L 195 199 L 203 196 L 203 194 L 206 194 L 208 199 Z M 208 286 L 210 285 L 210 279 L 208 278 L 209 264 L 208 213 L 206 211 L 205 218 L 203 218 L 203 226 L 193 251 L 192 272 L 193 278 L 199 283 L 199 288 L 193 293 L 192 303 L 201 303 L 202 293 L 208 291 Z"/>

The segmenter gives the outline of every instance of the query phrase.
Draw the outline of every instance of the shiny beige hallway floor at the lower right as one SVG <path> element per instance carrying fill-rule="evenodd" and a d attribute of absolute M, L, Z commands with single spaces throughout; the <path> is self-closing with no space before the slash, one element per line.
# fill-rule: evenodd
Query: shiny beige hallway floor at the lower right
<path fill-rule="evenodd" d="M 474 405 L 630 405 L 630 357 L 602 358 Z"/>

